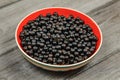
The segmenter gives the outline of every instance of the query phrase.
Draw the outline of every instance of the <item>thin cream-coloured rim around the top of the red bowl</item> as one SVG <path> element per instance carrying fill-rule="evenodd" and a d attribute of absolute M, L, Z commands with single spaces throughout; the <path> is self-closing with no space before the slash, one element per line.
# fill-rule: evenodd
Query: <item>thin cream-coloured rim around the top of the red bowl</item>
<path fill-rule="evenodd" d="M 56 8 L 56 9 L 57 9 L 57 8 L 60 8 L 60 9 L 69 9 L 69 10 L 72 10 L 72 11 L 75 11 L 75 12 L 78 12 L 78 13 L 81 13 L 81 14 L 83 14 L 84 16 L 88 17 L 90 20 L 92 20 L 92 22 L 93 22 L 95 25 L 97 25 L 97 28 L 98 28 L 98 30 L 99 30 L 99 32 L 100 32 L 100 36 L 101 36 L 100 45 L 99 45 L 98 49 L 96 50 L 96 52 L 93 53 L 89 58 L 87 58 L 87 59 L 85 59 L 85 60 L 83 60 L 83 61 L 81 61 L 81 62 L 78 62 L 78 63 L 75 63 L 75 64 L 68 64 L 68 65 L 53 65 L 53 64 L 47 64 L 47 63 L 44 63 L 44 62 L 40 62 L 40 61 L 38 61 L 38 60 L 30 57 L 29 55 L 27 55 L 27 53 L 22 50 L 22 48 L 20 47 L 20 45 L 19 45 L 19 43 L 18 43 L 18 41 L 17 41 L 17 31 L 18 31 L 19 25 L 20 25 L 20 24 L 22 23 L 22 21 L 23 21 L 26 17 L 28 17 L 29 15 L 31 15 L 31 14 L 33 14 L 33 13 L 35 13 L 35 12 L 38 12 L 38 11 L 40 11 L 40 10 L 51 9 L 51 8 Z M 91 17 L 89 17 L 87 14 L 85 14 L 85 13 L 83 13 L 83 12 L 81 12 L 81 11 L 78 11 L 78 10 L 75 10 L 75 9 L 71 9 L 71 8 L 66 8 L 66 7 L 46 7 L 46 8 L 42 8 L 42 9 L 37 9 L 37 10 L 35 10 L 35 11 L 27 14 L 24 18 L 22 18 L 22 20 L 21 20 L 21 21 L 19 22 L 19 24 L 17 25 L 16 31 L 15 31 L 15 41 L 16 41 L 17 46 L 19 47 L 19 49 L 22 51 L 22 54 L 25 55 L 25 56 L 26 56 L 27 58 L 29 58 L 30 60 L 32 60 L 32 61 L 34 61 L 34 62 L 36 62 L 36 63 L 38 63 L 38 64 L 42 64 L 42 65 L 44 65 L 44 66 L 56 67 L 56 68 L 63 68 L 63 67 L 77 66 L 77 65 L 80 65 L 80 64 L 82 64 L 82 63 L 84 63 L 84 62 L 89 61 L 90 59 L 92 59 L 92 58 L 97 54 L 97 52 L 100 50 L 100 48 L 101 48 L 101 45 L 102 45 L 102 42 L 103 42 L 103 36 L 102 36 L 102 31 L 101 31 L 99 25 L 98 25 Z"/>

